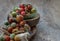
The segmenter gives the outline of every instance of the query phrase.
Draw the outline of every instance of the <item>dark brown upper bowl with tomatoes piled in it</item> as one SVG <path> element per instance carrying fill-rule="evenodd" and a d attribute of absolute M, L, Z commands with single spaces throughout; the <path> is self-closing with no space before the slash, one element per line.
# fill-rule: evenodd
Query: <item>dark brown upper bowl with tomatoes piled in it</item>
<path fill-rule="evenodd" d="M 39 19 L 40 19 L 40 15 L 36 14 L 36 16 L 34 18 L 28 19 L 28 20 L 25 20 L 25 21 L 28 25 L 30 25 L 32 27 L 32 26 L 36 26 L 38 24 Z"/>

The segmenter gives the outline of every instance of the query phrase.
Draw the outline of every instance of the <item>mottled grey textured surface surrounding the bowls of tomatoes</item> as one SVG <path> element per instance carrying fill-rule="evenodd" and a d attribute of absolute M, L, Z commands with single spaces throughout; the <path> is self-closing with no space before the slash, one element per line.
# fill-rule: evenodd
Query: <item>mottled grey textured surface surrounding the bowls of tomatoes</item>
<path fill-rule="evenodd" d="M 41 16 L 33 41 L 60 41 L 60 0 L 0 0 L 0 24 L 19 3 L 31 3 Z"/>

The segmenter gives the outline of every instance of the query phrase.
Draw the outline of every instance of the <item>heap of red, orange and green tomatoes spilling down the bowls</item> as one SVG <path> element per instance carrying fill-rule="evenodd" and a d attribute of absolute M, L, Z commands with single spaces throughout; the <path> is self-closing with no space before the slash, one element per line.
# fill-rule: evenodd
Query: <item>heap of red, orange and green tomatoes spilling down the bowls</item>
<path fill-rule="evenodd" d="M 36 9 L 31 4 L 20 4 L 19 7 L 15 7 L 13 11 L 8 15 L 7 21 L 4 23 L 4 29 L 10 33 L 10 35 L 1 35 L 0 41 L 13 41 L 15 32 L 20 31 L 29 32 L 30 26 L 24 21 L 26 16 L 36 13 Z"/>

